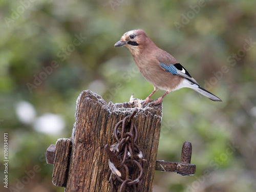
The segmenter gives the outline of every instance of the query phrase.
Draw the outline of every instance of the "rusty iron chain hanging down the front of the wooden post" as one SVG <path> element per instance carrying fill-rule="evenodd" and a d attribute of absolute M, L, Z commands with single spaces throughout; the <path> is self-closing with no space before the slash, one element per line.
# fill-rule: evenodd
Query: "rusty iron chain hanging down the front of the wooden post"
<path fill-rule="evenodd" d="M 143 174 L 142 152 L 136 144 L 137 127 L 133 117 L 138 112 L 136 108 L 131 116 L 126 116 L 114 128 L 116 142 L 106 144 L 105 152 L 109 157 L 108 181 L 112 192 L 140 191 Z M 117 190 L 119 188 L 119 190 Z"/>

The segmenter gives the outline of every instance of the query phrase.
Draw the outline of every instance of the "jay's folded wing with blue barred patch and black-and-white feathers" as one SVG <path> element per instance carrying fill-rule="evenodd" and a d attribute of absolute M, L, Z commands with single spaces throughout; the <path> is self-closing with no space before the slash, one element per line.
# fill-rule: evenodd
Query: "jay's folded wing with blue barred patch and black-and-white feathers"
<path fill-rule="evenodd" d="M 192 81 L 193 83 L 198 84 L 198 82 L 193 77 L 191 77 L 187 70 L 182 65 L 180 65 L 180 63 L 178 63 L 176 59 L 169 53 L 161 50 L 157 54 L 157 60 L 159 61 L 160 67 L 164 71 L 172 73 L 173 75 L 179 75 Z"/>

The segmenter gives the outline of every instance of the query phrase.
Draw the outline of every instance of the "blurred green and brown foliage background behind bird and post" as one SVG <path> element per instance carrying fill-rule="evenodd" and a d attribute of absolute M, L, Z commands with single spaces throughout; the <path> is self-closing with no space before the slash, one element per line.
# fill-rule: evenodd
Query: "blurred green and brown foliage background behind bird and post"
<path fill-rule="evenodd" d="M 179 162 L 190 141 L 197 172 L 156 172 L 154 191 L 255 191 L 256 1 L 1 0 L 0 7 L 1 157 L 9 136 L 9 188 L 3 157 L 1 191 L 64 191 L 52 184 L 45 153 L 71 137 L 82 90 L 114 103 L 153 91 L 129 50 L 114 48 L 138 28 L 223 100 L 189 89 L 164 98 L 158 160 Z M 34 166 L 40 171 L 24 182 Z"/>

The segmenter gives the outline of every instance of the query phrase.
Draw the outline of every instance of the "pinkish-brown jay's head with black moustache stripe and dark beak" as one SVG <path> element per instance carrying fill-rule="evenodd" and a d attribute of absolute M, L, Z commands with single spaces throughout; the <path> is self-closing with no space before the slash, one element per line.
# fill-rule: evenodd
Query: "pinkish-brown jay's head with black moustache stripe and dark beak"
<path fill-rule="evenodd" d="M 124 33 L 121 40 L 116 42 L 114 47 L 126 46 L 132 53 L 136 54 L 148 41 L 151 40 L 146 36 L 146 33 L 142 29 L 137 29 Z"/>

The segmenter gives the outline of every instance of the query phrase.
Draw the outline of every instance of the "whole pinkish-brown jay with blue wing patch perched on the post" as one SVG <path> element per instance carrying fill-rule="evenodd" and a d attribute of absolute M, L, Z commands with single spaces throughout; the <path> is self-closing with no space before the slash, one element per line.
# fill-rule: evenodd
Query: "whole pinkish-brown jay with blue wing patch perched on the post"
<path fill-rule="evenodd" d="M 122 46 L 126 46 L 131 51 L 140 73 L 154 86 L 154 91 L 145 99 L 144 104 L 153 101 L 150 98 L 158 89 L 165 90 L 166 93 L 158 98 L 155 105 L 162 103 L 169 92 L 181 88 L 190 88 L 213 101 L 222 101 L 200 87 L 187 70 L 172 55 L 158 48 L 142 29 L 124 33 L 121 40 L 114 45 L 114 47 Z"/>

